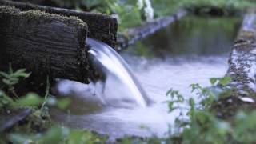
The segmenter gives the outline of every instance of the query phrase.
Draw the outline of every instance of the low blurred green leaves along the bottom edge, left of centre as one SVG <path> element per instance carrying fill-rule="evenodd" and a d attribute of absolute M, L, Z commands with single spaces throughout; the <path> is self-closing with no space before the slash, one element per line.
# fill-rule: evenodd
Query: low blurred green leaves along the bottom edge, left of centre
<path fill-rule="evenodd" d="M 106 138 L 100 137 L 89 131 L 71 130 L 63 126 L 51 126 L 43 134 L 9 134 L 8 140 L 13 143 L 66 143 L 66 144 L 79 144 L 79 143 L 103 143 Z"/>

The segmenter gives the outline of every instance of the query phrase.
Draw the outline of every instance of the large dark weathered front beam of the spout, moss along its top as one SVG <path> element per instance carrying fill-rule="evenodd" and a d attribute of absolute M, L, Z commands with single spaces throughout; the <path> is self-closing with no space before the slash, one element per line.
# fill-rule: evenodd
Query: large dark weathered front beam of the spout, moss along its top
<path fill-rule="evenodd" d="M 0 70 L 11 62 L 41 82 L 47 75 L 88 82 L 86 34 L 78 18 L 0 6 Z"/>

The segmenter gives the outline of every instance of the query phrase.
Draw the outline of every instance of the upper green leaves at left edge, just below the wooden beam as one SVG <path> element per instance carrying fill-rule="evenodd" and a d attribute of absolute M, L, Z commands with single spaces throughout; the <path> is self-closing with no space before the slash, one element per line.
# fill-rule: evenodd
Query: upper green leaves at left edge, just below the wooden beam
<path fill-rule="evenodd" d="M 30 73 L 27 73 L 25 69 L 19 69 L 14 71 L 10 66 L 9 71 L 2 72 L 0 71 L 0 78 L 2 81 L 2 86 L 0 87 L 0 108 L 2 106 L 13 106 L 13 107 L 29 107 L 36 108 L 41 106 L 41 110 L 45 106 L 57 106 L 59 109 L 64 110 L 67 106 L 70 105 L 69 98 L 59 98 L 58 100 L 49 94 L 50 83 L 49 78 L 47 78 L 47 87 L 45 98 L 40 97 L 35 93 L 28 93 L 22 97 L 18 96 L 15 92 L 14 85 L 17 85 L 21 78 L 29 78 Z M 6 92 L 1 89 L 8 87 L 8 92 L 14 94 L 15 99 L 10 97 Z"/>

